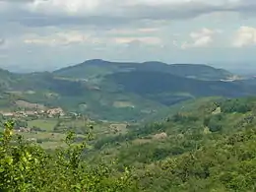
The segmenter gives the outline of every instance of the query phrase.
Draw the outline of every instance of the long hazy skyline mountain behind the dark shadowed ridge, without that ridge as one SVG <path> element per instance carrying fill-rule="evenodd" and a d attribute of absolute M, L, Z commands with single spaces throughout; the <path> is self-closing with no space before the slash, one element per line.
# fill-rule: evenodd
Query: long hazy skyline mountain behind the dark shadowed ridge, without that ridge
<path fill-rule="evenodd" d="M 199 80 L 226 80 L 233 75 L 224 69 L 203 64 L 165 64 L 157 61 L 144 63 L 109 62 L 100 59 L 88 60 L 81 64 L 56 70 L 53 74 L 61 77 L 91 79 L 118 72 L 153 71 Z"/>

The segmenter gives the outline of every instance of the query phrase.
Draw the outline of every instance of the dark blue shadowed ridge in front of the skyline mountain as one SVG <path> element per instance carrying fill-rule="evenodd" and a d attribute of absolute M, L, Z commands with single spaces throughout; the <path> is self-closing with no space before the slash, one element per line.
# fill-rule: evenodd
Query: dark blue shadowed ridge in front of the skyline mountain
<path fill-rule="evenodd" d="M 168 73 L 132 71 L 106 76 L 128 93 L 134 93 L 170 105 L 198 96 L 246 96 L 254 91 L 246 85 L 221 81 L 201 81 Z"/>

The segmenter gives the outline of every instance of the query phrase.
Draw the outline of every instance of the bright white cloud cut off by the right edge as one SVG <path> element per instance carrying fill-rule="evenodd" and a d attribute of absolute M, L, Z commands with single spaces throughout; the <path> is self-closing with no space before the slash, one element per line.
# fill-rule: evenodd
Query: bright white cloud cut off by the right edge
<path fill-rule="evenodd" d="M 233 37 L 232 46 L 244 47 L 256 44 L 256 28 L 240 27 Z"/>

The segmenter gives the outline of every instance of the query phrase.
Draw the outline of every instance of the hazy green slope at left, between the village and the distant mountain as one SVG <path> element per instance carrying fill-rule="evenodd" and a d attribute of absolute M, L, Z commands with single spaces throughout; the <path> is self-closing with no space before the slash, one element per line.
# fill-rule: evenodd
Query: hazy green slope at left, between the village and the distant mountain
<path fill-rule="evenodd" d="M 10 73 L 11 74 L 11 73 Z M 142 96 L 115 90 L 115 85 L 101 89 L 100 85 L 73 79 L 57 78 L 53 74 L 11 74 L 1 78 L 3 89 L 0 109 L 14 108 L 14 100 L 21 99 L 65 111 L 85 113 L 94 119 L 139 120 L 164 108 L 163 104 Z"/>

